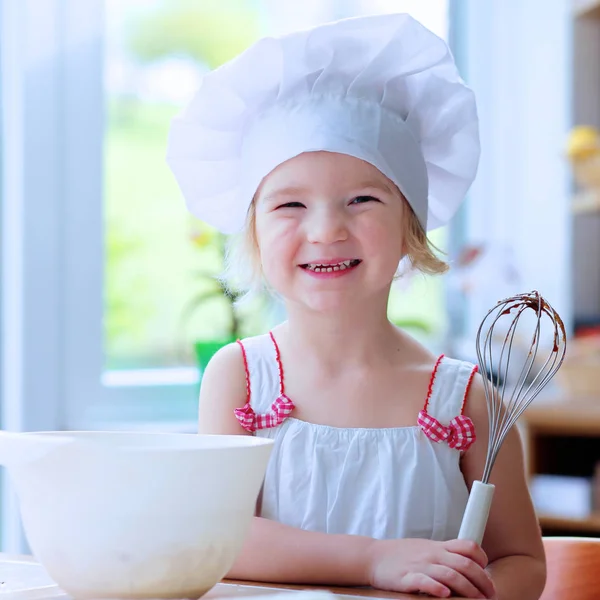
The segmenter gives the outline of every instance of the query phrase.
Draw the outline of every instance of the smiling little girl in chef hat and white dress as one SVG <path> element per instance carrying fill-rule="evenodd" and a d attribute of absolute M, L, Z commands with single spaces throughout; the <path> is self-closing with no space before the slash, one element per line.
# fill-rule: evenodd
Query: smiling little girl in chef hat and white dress
<path fill-rule="evenodd" d="M 539 598 L 518 434 L 494 468 L 482 547 L 457 540 L 485 462 L 482 382 L 387 319 L 401 260 L 446 269 L 426 232 L 462 201 L 478 144 L 447 46 L 407 15 L 261 40 L 174 121 L 168 160 L 188 206 L 241 236 L 232 264 L 287 312 L 203 375 L 201 433 L 275 441 L 230 577 Z"/>

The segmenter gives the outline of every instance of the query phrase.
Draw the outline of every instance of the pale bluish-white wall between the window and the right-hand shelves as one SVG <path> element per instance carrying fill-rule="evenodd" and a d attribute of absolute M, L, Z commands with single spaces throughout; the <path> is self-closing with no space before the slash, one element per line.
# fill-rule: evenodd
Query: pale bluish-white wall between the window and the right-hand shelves
<path fill-rule="evenodd" d="M 563 155 L 571 125 L 570 2 L 454 4 L 464 74 L 481 118 L 481 165 L 465 235 L 512 247 L 522 275 L 515 292 L 539 290 L 570 324 L 570 175 Z M 491 285 L 470 300 L 467 340 L 499 294 Z"/>

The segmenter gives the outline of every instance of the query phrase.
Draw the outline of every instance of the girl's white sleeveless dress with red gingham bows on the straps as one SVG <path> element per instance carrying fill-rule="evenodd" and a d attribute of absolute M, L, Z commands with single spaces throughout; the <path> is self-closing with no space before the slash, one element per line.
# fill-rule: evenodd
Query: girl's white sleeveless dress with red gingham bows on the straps
<path fill-rule="evenodd" d="M 248 402 L 236 416 L 254 435 L 275 441 L 261 516 L 310 531 L 377 539 L 457 537 L 468 498 L 461 450 L 447 439 L 433 440 L 440 439 L 436 431 L 448 433 L 462 414 L 476 367 L 438 360 L 426 412 L 419 415 L 433 421 L 433 435 L 421 420 L 417 424 L 416 415 L 410 427 L 338 428 L 288 416 L 293 402 L 284 394 L 275 338 L 266 334 L 239 344 Z M 472 426 L 470 419 L 460 418 Z"/>

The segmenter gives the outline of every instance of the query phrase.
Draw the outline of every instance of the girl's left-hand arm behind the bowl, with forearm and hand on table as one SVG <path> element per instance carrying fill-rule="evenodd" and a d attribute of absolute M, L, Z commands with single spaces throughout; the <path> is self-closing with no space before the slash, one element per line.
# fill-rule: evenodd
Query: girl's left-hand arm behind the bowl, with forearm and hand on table
<path fill-rule="evenodd" d="M 233 410 L 246 403 L 240 349 L 221 349 L 202 377 L 199 433 L 249 435 Z M 467 541 L 374 540 L 304 531 L 255 517 L 229 578 L 276 583 L 374 586 L 448 597 L 489 597 L 485 554 Z M 483 591 L 483 593 L 482 593 Z"/>

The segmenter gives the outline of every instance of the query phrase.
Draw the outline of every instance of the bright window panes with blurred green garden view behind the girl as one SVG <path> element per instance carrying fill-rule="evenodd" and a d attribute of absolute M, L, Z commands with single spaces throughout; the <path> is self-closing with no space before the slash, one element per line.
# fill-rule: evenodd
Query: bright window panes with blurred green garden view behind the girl
<path fill-rule="evenodd" d="M 170 120 L 191 98 L 201 74 L 264 34 L 398 10 L 447 37 L 447 0 L 427 6 L 414 0 L 313 0 L 301 6 L 106 0 L 105 384 L 179 383 L 189 389 L 197 377 L 196 341 L 218 343 L 270 324 L 269 313 L 255 308 L 243 312 L 239 329 L 231 331 L 230 303 L 208 293 L 214 286 L 204 276 L 222 266 L 219 246 L 187 213 L 164 159 Z M 203 245 L 207 237 L 208 247 Z M 444 231 L 433 238 L 444 246 Z M 393 295 L 391 316 L 439 338 L 445 327 L 442 282 L 419 276 L 404 287 Z M 194 298 L 200 301 L 189 314 Z"/>

